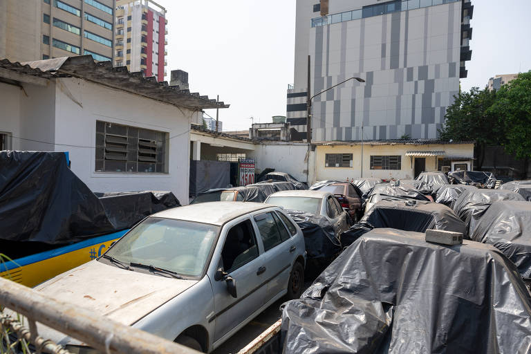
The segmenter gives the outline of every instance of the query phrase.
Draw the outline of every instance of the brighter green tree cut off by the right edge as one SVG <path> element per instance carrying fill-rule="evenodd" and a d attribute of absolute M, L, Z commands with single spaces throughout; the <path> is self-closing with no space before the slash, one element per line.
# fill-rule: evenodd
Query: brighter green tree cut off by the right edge
<path fill-rule="evenodd" d="M 531 158 L 531 71 L 501 86 L 496 96 L 489 113 L 503 124 L 505 151 L 519 159 Z M 492 130 L 492 135 L 498 132 Z"/>

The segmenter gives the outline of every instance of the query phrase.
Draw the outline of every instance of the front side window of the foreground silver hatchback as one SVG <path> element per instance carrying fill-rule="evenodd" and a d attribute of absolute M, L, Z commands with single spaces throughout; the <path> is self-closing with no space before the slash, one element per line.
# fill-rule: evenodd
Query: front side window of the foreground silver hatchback
<path fill-rule="evenodd" d="M 245 220 L 231 227 L 221 251 L 225 272 L 230 273 L 257 257 L 257 239 L 251 221 Z"/>

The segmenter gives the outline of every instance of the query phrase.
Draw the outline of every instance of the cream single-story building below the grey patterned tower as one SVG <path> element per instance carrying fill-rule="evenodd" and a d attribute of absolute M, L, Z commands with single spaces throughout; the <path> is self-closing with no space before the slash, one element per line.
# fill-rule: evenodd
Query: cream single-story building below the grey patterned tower
<path fill-rule="evenodd" d="M 422 171 L 447 172 L 474 167 L 474 142 L 399 139 L 313 142 L 313 145 L 316 180 L 413 179 Z"/>

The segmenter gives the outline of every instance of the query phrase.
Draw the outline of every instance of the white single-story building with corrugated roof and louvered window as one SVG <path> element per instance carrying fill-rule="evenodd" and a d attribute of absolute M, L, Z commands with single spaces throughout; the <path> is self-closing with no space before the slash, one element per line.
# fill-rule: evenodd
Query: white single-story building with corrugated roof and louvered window
<path fill-rule="evenodd" d="M 227 108 L 91 55 L 0 60 L 0 149 L 68 151 L 93 192 L 168 190 L 188 201 L 190 124 Z"/>

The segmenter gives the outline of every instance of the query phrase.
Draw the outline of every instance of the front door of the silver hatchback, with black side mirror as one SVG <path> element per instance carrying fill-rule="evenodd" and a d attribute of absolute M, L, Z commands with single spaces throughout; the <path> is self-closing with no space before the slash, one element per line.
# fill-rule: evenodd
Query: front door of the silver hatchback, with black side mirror
<path fill-rule="evenodd" d="M 249 218 L 227 227 L 223 248 L 212 261 L 218 268 L 223 267 L 227 276 L 236 281 L 237 297 L 227 290 L 225 279 L 211 277 L 214 290 L 214 310 L 216 321 L 214 342 L 241 324 L 265 301 L 265 257 L 261 254 L 261 243 L 257 242 L 254 225 Z M 222 233 L 223 235 L 223 233 Z M 211 319 L 212 320 L 212 319 Z"/>

